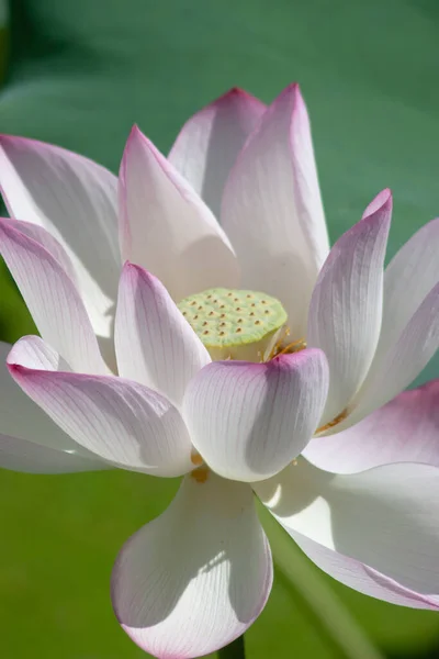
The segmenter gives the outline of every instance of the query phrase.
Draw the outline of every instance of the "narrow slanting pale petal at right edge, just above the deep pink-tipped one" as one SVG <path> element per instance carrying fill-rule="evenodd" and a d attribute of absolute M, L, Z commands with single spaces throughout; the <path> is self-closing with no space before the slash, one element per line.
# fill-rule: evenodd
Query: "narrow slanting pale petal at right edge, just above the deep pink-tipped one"
<path fill-rule="evenodd" d="M 439 283 L 416 310 L 399 338 L 373 362 L 368 378 L 340 426 L 358 423 L 403 391 L 427 366 L 439 347 Z"/>

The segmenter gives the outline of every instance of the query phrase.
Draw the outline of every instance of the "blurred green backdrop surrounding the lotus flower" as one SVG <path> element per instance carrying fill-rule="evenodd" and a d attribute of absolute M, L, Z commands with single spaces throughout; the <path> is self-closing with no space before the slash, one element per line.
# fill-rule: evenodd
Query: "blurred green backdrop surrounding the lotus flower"
<path fill-rule="evenodd" d="M 299 80 L 333 241 L 387 186 L 390 254 L 439 213 L 437 0 L 0 0 L 7 23 L 1 132 L 116 171 L 134 122 L 166 152 L 184 120 L 227 88 L 270 101 Z M 33 332 L 4 269 L 0 290 L 0 337 Z M 437 375 L 436 359 L 419 381 Z M 177 487 L 127 472 L 1 471 L 1 655 L 145 656 L 113 617 L 110 572 L 123 541 Z M 248 634 L 251 659 L 439 656 L 439 615 L 359 595 L 269 532 L 279 567 Z"/>

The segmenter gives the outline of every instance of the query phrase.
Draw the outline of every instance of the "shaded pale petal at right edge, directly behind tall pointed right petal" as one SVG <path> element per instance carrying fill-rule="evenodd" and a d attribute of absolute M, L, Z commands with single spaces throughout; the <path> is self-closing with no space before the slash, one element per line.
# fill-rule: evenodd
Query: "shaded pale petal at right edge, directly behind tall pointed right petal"
<path fill-rule="evenodd" d="M 439 217 L 423 226 L 384 272 L 383 322 L 374 360 L 401 336 L 418 306 L 439 282 Z"/>

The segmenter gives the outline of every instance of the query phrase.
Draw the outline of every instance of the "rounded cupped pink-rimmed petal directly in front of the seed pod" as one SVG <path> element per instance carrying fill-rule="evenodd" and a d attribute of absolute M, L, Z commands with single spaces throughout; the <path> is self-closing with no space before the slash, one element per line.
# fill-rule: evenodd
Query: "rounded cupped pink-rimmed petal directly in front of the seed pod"
<path fill-rule="evenodd" d="M 184 417 L 192 443 L 221 476 L 268 478 L 306 446 L 320 417 L 328 370 L 320 350 L 268 364 L 215 361 L 191 380 Z"/>

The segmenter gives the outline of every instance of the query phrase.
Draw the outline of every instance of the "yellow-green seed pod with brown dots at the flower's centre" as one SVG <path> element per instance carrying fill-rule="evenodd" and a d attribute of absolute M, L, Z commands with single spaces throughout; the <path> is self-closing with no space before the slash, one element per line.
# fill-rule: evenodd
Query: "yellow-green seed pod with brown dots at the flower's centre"
<path fill-rule="evenodd" d="M 281 302 L 256 291 L 209 289 L 178 308 L 212 359 L 266 361 L 285 331 Z"/>

